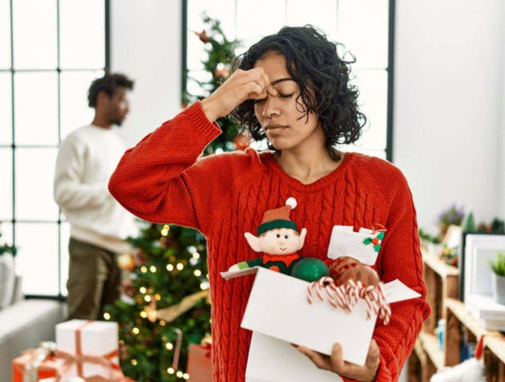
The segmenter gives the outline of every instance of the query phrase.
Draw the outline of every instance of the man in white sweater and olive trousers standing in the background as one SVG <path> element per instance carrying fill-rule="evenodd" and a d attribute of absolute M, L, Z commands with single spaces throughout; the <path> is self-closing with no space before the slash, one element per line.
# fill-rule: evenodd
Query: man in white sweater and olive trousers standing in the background
<path fill-rule="evenodd" d="M 124 241 L 135 235 L 133 215 L 109 194 L 109 178 L 126 148 L 113 125 L 128 111 L 133 81 L 123 74 L 95 79 L 88 105 L 91 124 L 61 142 L 56 161 L 54 198 L 71 225 L 69 319 L 99 319 L 105 305 L 119 297 L 121 271 L 117 254 L 129 251 Z"/>

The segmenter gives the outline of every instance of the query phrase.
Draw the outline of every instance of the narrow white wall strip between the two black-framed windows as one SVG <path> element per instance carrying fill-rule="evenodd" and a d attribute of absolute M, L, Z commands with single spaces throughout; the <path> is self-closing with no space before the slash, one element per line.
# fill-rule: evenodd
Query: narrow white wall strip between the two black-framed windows
<path fill-rule="evenodd" d="M 180 0 L 111 1 L 111 70 L 135 80 L 128 147 L 180 111 L 181 20 Z"/>

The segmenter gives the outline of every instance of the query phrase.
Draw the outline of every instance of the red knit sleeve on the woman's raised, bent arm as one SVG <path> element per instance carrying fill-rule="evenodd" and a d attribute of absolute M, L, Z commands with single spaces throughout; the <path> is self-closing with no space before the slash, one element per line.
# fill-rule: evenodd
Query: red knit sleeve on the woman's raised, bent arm
<path fill-rule="evenodd" d="M 205 234 L 213 204 L 231 188 L 230 156 L 198 157 L 221 132 L 196 102 L 125 152 L 109 180 L 111 194 L 144 220 Z"/>

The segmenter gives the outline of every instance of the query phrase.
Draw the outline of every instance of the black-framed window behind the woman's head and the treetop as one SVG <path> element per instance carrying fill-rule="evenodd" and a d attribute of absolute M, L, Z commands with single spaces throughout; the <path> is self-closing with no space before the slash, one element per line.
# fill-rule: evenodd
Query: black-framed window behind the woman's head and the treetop
<path fill-rule="evenodd" d="M 319 0 L 311 5 L 297 0 L 184 0 L 183 6 L 183 69 L 188 70 L 188 77 L 199 80 L 209 76 L 200 62 L 205 58 L 203 46 L 193 34 L 204 27 L 200 17 L 203 11 L 221 21 L 229 39 L 243 42 L 237 54 L 284 25 L 312 24 L 330 39 L 343 43 L 357 58 L 352 66 L 354 83 L 360 89 L 359 102 L 369 122 L 356 145 L 342 149 L 392 160 L 394 0 Z M 203 94 L 195 81 L 182 82 L 189 92 Z M 266 149 L 264 142 L 254 145 Z"/>

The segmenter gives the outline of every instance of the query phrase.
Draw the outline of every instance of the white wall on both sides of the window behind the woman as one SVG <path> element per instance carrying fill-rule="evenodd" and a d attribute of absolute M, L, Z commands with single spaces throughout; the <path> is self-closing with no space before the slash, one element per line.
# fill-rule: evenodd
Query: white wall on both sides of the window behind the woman
<path fill-rule="evenodd" d="M 393 160 L 420 226 L 452 202 L 505 217 L 503 7 L 396 2 Z M 111 36 L 112 70 L 136 80 L 121 132 L 132 146 L 180 110 L 181 2 L 112 0 Z"/>

